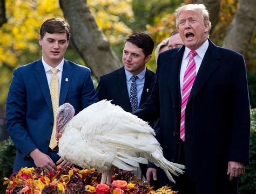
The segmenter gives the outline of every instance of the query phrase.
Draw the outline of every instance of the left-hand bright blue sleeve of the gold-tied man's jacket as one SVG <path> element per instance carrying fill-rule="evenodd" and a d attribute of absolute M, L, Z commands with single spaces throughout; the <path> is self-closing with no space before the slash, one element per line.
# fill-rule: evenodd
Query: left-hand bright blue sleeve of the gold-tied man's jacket
<path fill-rule="evenodd" d="M 37 148 L 26 130 L 26 106 L 26 88 L 21 74 L 16 69 L 6 99 L 6 129 L 24 158 Z"/>

